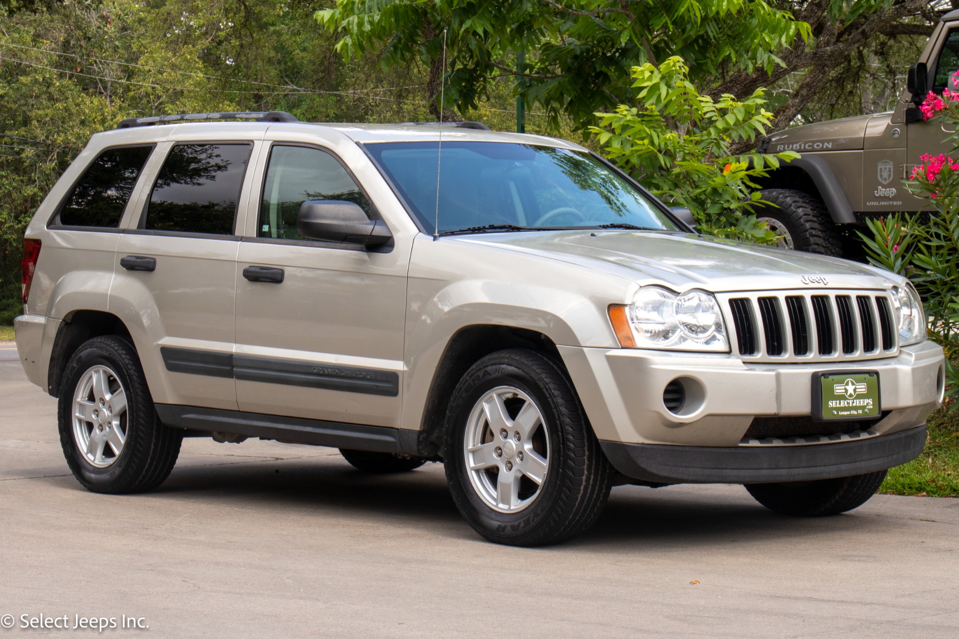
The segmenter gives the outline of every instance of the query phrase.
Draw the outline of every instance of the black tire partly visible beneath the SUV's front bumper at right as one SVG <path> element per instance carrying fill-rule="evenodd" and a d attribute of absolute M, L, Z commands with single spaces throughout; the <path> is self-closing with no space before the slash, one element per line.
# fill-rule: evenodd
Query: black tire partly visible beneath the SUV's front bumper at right
<path fill-rule="evenodd" d="M 886 471 L 852 477 L 785 484 L 747 484 L 746 490 L 770 511 L 807 517 L 846 513 L 876 494 Z"/>

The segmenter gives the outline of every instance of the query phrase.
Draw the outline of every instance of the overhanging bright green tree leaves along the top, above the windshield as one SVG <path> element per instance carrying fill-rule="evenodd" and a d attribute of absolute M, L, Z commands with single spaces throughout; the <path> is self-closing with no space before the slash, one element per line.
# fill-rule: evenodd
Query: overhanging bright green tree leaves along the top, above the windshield
<path fill-rule="evenodd" d="M 446 106 L 476 109 L 504 74 L 515 95 L 565 114 L 579 127 L 597 110 L 634 103 L 629 70 L 679 55 L 691 77 L 720 69 L 771 71 L 776 52 L 810 34 L 806 23 L 763 0 L 337 0 L 316 20 L 340 34 L 347 59 L 383 45 L 402 67 L 441 55 L 447 30 Z M 513 61 L 526 52 L 523 73 Z"/>

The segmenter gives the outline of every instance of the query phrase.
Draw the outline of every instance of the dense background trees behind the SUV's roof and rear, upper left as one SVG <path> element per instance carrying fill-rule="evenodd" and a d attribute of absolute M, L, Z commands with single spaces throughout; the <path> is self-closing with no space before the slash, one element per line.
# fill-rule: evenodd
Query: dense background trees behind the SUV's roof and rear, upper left
<path fill-rule="evenodd" d="M 287 110 L 429 118 L 423 70 L 344 63 L 316 3 L 0 3 L 0 324 L 22 312 L 23 231 L 90 135 L 138 115 Z"/>

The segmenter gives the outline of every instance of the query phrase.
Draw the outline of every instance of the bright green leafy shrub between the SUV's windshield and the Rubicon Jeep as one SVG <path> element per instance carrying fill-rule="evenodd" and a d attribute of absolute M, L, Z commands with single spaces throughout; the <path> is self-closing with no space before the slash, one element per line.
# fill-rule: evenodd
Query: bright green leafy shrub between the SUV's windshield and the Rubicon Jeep
<path fill-rule="evenodd" d="M 620 104 L 597 113 L 599 126 L 589 128 L 607 157 L 667 203 L 690 209 L 702 232 L 773 243 L 776 236 L 751 215 L 760 203 L 754 179 L 798 155 L 729 151 L 765 132 L 772 113 L 763 108 L 763 91 L 713 101 L 690 82 L 680 57 L 635 67 L 632 77 L 643 107 Z"/>

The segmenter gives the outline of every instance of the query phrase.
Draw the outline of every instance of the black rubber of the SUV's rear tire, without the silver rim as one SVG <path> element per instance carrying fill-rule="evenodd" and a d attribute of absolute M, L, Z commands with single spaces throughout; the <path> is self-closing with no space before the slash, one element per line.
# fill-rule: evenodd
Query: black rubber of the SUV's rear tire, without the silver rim
<path fill-rule="evenodd" d="M 108 483 L 91 482 L 84 478 L 80 463 L 73 456 L 73 424 L 68 416 L 72 410 L 75 377 L 82 373 L 78 370 L 81 366 L 80 359 L 90 349 L 98 349 L 101 354 L 106 355 L 105 358 L 112 358 L 116 368 L 120 369 L 117 373 L 126 377 L 123 381 L 128 395 L 128 406 L 133 407 L 132 411 L 128 407 L 128 415 L 132 413 L 132 419 L 136 420 L 136 423 L 132 424 L 132 430 L 138 431 L 132 434 L 128 417 L 128 441 L 123 451 L 129 456 L 125 462 L 126 470 Z M 179 456 L 183 431 L 160 422 L 139 356 L 128 340 L 117 335 L 104 335 L 87 340 L 67 362 L 63 381 L 68 383 L 61 387 L 58 402 L 60 444 L 74 476 L 87 490 L 110 494 L 147 492 L 166 481 Z"/>

